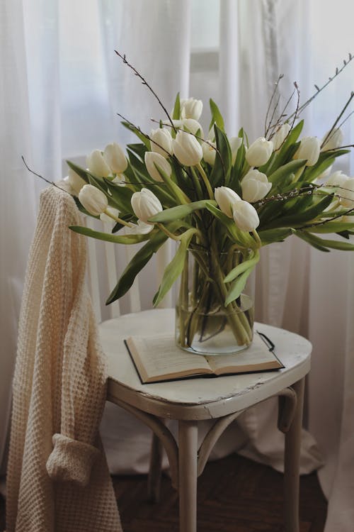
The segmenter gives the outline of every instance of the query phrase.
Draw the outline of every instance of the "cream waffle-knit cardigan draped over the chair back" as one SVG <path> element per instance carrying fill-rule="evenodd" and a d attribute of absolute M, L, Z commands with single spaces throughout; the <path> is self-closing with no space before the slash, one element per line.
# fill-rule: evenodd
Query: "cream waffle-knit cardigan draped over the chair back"
<path fill-rule="evenodd" d="M 85 285 L 74 200 L 42 192 L 13 380 L 7 532 L 118 532 L 98 434 L 106 366 Z"/>

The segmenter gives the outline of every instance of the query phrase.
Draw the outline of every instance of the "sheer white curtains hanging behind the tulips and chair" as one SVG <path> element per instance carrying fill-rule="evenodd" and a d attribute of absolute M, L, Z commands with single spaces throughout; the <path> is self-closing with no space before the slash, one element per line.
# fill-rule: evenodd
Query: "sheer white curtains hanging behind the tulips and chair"
<path fill-rule="evenodd" d="M 39 187 L 38 180 L 25 171 L 21 154 L 36 171 L 57 179 L 66 171 L 61 167 L 66 158 L 83 163 L 90 150 L 112 140 L 134 141 L 115 113 L 145 131 L 155 127 L 150 118 L 163 117 L 161 109 L 147 87 L 118 60 L 115 49 L 127 54 L 166 109 L 171 109 L 178 91 L 182 97 L 202 98 L 205 108 L 211 96 L 224 113 L 227 133 L 234 135 L 243 126 L 254 140 L 263 135 L 278 75 L 285 74 L 280 84 L 283 101 L 295 80 L 302 101 L 306 100 L 315 90 L 314 83 L 321 87 L 341 67 L 348 51 L 353 52 L 351 21 L 353 5 L 348 0 L 337 0 L 334 6 L 321 0 L 1 3 L 0 118 L 6 127 L 0 133 L 4 343 L 0 460 L 6 445 L 16 321 Z M 198 33 L 200 28 L 205 28 L 204 33 Z M 304 135 L 322 137 L 351 90 L 353 65 L 303 113 Z M 203 116 L 202 126 L 207 128 L 207 109 Z M 353 143 L 353 130 L 351 118 L 343 126 L 346 143 Z M 353 155 L 341 157 L 336 165 L 336 170 L 348 175 L 353 175 L 353 168 Z M 164 253 L 169 260 L 171 250 L 166 248 Z M 292 237 L 262 250 L 256 274 L 256 318 L 302 333 L 314 345 L 305 421 L 325 460 L 319 478 L 329 497 L 326 532 L 349 532 L 353 523 L 353 267 L 350 253 L 324 254 Z M 156 278 L 152 270 L 148 275 Z M 147 308 L 150 286 L 142 285 L 147 287 L 142 294 Z M 243 429 L 257 436 L 272 416 L 271 405 L 254 409 L 242 421 Z M 115 448 L 113 433 L 110 445 Z M 253 438 L 249 452 L 275 465 L 267 432 L 263 434 L 263 440 Z M 314 460 L 317 451 L 312 440 L 308 444 Z M 144 461 L 142 453 L 139 457 Z"/>

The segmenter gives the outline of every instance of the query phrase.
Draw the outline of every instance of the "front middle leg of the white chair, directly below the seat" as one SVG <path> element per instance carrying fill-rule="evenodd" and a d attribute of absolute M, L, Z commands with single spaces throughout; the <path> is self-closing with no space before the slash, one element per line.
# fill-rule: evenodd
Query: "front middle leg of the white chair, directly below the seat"
<path fill-rule="evenodd" d="M 197 531 L 197 421 L 179 421 L 179 529 L 180 532 Z"/>

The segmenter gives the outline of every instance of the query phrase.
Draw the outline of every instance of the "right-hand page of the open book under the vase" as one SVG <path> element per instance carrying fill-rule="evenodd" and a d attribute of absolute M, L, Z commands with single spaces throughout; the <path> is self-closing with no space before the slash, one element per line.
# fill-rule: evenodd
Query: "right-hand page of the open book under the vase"
<path fill-rule="evenodd" d="M 256 333 L 248 349 L 234 355 L 207 355 L 205 358 L 216 375 L 227 372 L 241 373 L 283 367 L 280 360 L 276 358 Z"/>

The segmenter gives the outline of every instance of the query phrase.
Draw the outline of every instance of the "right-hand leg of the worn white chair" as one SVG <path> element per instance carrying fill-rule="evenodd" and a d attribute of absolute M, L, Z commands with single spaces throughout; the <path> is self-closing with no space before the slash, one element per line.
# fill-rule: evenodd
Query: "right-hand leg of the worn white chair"
<path fill-rule="evenodd" d="M 299 532 L 299 458 L 304 406 L 304 379 L 292 385 L 297 406 L 290 430 L 285 433 L 284 510 L 285 532 Z"/>

